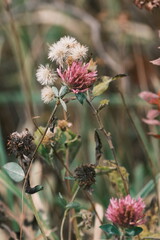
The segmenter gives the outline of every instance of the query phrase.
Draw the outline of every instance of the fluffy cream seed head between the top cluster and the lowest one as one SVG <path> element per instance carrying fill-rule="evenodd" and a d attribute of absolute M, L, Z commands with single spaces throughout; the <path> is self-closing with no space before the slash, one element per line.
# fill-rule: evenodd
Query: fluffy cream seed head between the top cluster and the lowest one
<path fill-rule="evenodd" d="M 57 74 L 50 69 L 49 65 L 40 65 L 37 69 L 36 77 L 41 85 L 53 85 L 57 80 Z"/>

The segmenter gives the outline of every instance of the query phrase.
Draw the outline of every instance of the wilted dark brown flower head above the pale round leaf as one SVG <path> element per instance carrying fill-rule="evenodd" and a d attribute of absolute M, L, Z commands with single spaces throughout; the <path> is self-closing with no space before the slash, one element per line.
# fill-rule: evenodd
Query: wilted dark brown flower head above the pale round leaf
<path fill-rule="evenodd" d="M 13 132 L 8 139 L 7 147 L 16 157 L 23 158 L 24 155 L 31 157 L 35 149 L 33 136 L 27 128 L 21 133 Z"/>

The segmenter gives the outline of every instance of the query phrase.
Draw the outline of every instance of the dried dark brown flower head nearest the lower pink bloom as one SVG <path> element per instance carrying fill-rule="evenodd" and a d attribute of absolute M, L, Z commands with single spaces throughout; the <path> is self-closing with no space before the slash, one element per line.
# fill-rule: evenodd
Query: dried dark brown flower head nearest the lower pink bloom
<path fill-rule="evenodd" d="M 95 165 L 94 164 L 86 164 L 81 167 L 77 167 L 74 171 L 74 177 L 78 181 L 80 187 L 85 190 L 90 190 L 92 184 L 95 183 Z"/>

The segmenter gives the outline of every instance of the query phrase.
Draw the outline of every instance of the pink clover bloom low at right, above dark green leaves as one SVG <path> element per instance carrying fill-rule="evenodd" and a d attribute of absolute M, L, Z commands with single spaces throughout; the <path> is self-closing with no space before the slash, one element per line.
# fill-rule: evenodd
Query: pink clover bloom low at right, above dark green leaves
<path fill-rule="evenodd" d="M 131 227 L 143 224 L 145 204 L 142 198 L 137 200 L 127 195 L 124 198 L 112 198 L 106 211 L 106 218 L 120 227 Z"/>

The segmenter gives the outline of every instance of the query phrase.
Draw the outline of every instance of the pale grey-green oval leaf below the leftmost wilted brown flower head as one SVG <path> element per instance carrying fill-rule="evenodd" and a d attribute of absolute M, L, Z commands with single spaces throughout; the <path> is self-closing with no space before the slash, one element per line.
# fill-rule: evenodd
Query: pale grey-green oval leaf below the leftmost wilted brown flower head
<path fill-rule="evenodd" d="M 25 177 L 23 169 L 15 162 L 6 163 L 3 168 L 15 182 L 21 182 Z"/>

